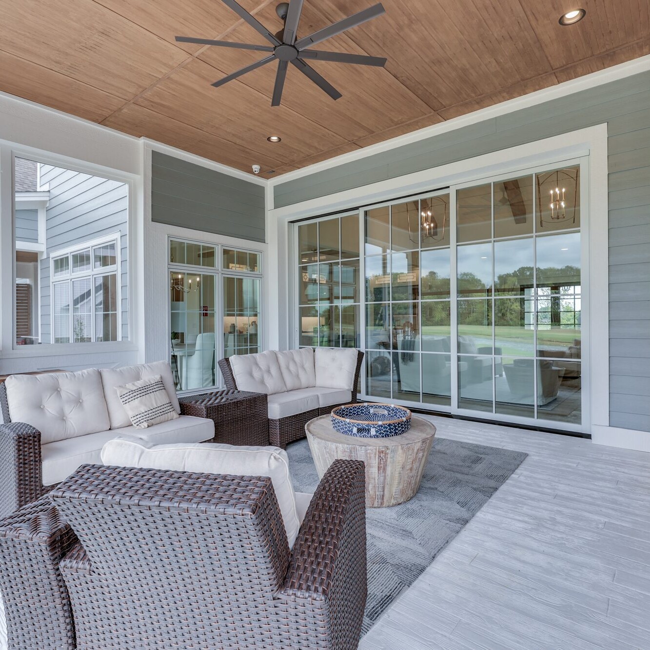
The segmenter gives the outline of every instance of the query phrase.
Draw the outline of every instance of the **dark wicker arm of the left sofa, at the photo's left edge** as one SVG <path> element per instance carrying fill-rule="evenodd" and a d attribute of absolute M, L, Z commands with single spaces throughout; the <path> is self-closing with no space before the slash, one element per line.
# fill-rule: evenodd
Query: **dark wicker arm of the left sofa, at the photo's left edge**
<path fill-rule="evenodd" d="M 0 517 L 38 499 L 54 486 L 44 486 L 41 474 L 40 431 L 12 422 L 6 386 L 0 383 Z"/>

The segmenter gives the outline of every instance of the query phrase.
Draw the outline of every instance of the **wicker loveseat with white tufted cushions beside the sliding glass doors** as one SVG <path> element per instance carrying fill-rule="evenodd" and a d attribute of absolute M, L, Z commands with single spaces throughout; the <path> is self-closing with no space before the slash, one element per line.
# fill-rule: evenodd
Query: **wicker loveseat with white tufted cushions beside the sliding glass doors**
<path fill-rule="evenodd" d="M 363 352 L 302 348 L 221 359 L 226 387 L 268 396 L 268 439 L 285 448 L 305 437 L 305 424 L 335 406 L 357 401 Z"/>

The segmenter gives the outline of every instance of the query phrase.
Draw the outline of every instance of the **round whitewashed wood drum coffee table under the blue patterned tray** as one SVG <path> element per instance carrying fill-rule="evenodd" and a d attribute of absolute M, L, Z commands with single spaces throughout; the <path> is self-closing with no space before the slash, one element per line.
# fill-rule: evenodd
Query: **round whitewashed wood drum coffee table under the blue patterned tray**
<path fill-rule="evenodd" d="M 357 438 L 339 434 L 330 415 L 305 424 L 309 449 L 318 476 L 337 459 L 363 460 L 366 470 L 366 506 L 384 508 L 411 499 L 422 480 L 422 472 L 434 441 L 435 426 L 411 417 L 411 428 L 389 438 Z"/>

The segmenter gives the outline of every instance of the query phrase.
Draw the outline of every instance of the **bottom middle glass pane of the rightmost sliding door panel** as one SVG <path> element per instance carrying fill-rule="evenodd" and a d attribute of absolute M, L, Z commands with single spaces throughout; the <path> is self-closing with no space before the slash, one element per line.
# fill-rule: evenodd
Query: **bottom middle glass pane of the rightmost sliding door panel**
<path fill-rule="evenodd" d="M 534 359 L 497 357 L 495 411 L 505 415 L 535 417 Z M 539 387 L 541 389 L 541 386 Z"/>

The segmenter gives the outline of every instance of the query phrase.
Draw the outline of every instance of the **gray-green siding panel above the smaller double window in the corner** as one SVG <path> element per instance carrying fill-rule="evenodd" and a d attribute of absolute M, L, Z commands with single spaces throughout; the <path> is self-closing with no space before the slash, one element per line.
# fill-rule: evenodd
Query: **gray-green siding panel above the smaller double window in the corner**
<path fill-rule="evenodd" d="M 264 187 L 151 152 L 151 220 L 265 241 Z"/>

